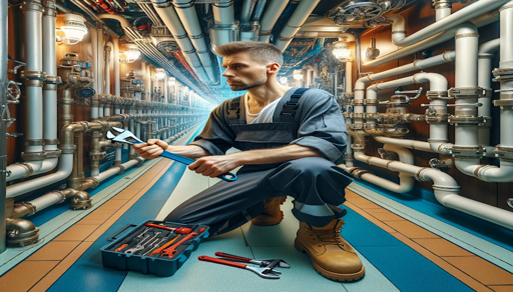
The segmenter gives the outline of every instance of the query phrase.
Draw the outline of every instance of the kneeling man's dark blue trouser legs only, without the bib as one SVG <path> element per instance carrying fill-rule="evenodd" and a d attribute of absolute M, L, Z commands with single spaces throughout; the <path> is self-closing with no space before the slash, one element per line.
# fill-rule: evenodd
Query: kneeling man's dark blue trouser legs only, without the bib
<path fill-rule="evenodd" d="M 292 214 L 313 226 L 325 226 L 346 214 L 341 204 L 352 179 L 333 162 L 306 157 L 259 171 L 265 165 L 273 164 L 244 166 L 237 180 L 220 181 L 191 197 L 165 221 L 208 225 L 211 235 L 222 234 L 259 216 L 265 199 L 281 196 L 293 197 Z"/>

